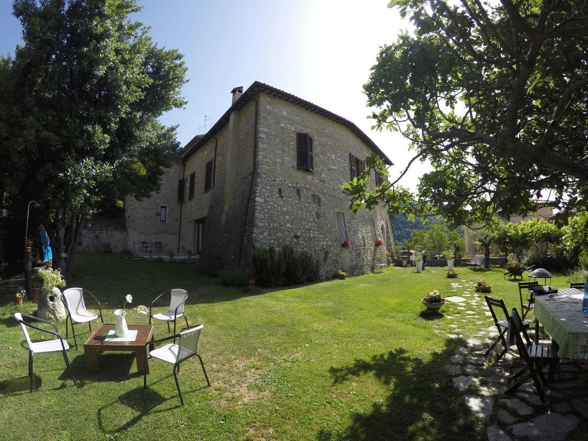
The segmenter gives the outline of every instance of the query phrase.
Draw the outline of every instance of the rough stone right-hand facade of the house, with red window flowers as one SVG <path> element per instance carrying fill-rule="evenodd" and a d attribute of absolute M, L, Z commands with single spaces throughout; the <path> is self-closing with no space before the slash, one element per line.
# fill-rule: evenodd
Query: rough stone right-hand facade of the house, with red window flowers
<path fill-rule="evenodd" d="M 350 179 L 349 153 L 365 158 L 372 151 L 328 118 L 266 93 L 259 95 L 259 101 L 253 245 L 288 244 L 312 252 L 323 278 L 338 268 L 357 275 L 385 265 L 386 248 L 391 252 L 395 248 L 386 209 L 354 214 L 341 200 L 340 185 Z M 313 138 L 313 173 L 296 168 L 297 132 Z M 337 212 L 345 217 L 348 248 L 338 239 Z M 385 246 L 376 248 L 376 239 Z"/>

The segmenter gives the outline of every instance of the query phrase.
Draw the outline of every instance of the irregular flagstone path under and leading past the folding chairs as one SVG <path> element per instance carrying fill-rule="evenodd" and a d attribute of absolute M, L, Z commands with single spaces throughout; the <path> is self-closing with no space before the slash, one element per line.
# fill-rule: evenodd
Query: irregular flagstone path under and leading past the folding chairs
<path fill-rule="evenodd" d="M 473 282 L 459 282 L 452 283 L 452 292 L 446 297 L 450 333 L 436 325 L 434 329 L 451 339 L 478 329 L 475 338 L 457 347 L 445 368 L 453 376 L 453 385 L 463 392 L 467 407 L 486 423 L 489 441 L 588 439 L 588 363 L 560 362 L 554 382 L 546 387 L 546 403 L 540 401 L 532 380 L 515 394 L 505 395 L 508 377 L 524 364 L 516 352 L 507 353 L 498 362 L 496 354 L 485 355 L 498 332 L 495 326 L 486 328 L 492 318 L 484 295 L 475 292 Z M 484 324 L 482 330 L 480 323 Z M 502 350 L 502 345 L 497 346 Z"/>

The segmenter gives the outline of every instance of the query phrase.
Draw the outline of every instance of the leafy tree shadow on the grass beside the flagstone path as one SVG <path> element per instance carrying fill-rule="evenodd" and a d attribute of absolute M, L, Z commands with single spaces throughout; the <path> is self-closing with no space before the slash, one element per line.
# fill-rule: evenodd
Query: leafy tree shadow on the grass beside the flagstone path
<path fill-rule="evenodd" d="M 367 360 L 356 359 L 350 366 L 330 368 L 335 385 L 373 375 L 389 386 L 390 394 L 383 403 L 372 403 L 370 409 L 354 413 L 343 432 L 321 430 L 317 438 L 321 441 L 485 439 L 483 424 L 467 408 L 462 393 L 453 387 L 444 368 L 459 343 L 448 340 L 445 348 L 433 354 L 429 361 L 410 356 L 400 348 Z"/>

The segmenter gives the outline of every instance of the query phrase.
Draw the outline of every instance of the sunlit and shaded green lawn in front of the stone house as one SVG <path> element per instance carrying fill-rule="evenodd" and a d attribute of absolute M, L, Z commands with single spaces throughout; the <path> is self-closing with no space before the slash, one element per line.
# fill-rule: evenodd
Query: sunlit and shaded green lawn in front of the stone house
<path fill-rule="evenodd" d="M 483 311 L 466 317 L 447 302 L 442 314 L 423 313 L 420 298 L 432 289 L 450 295 L 451 283 L 478 276 L 493 296 L 517 306 L 516 283 L 501 269 L 410 268 L 332 280 L 292 289 L 242 289 L 198 275 L 195 265 L 82 254 L 76 271 L 101 299 L 106 322 L 131 293 L 149 306 L 160 292 L 188 290 L 191 325 L 203 323 L 201 354 L 182 365 L 180 406 L 171 365 L 152 361 L 148 390 L 128 353 L 99 355 L 101 372 L 85 372 L 83 345 L 69 350 L 78 387 L 59 353 L 35 358 L 37 390 L 28 392 L 27 352 L 12 319 L 14 288 L 0 286 L 0 433 L 3 439 L 485 439 L 483 423 L 463 404 L 445 364 L 460 340 L 492 320 Z M 463 282 L 462 282 L 463 283 Z M 563 276 L 554 286 L 567 286 Z M 458 292 L 459 294 L 459 292 Z M 447 315 L 454 316 L 452 319 Z M 463 321 L 462 321 L 463 319 Z M 129 323 L 146 323 L 129 312 Z M 58 323 L 65 336 L 64 322 Z M 156 323 L 155 336 L 168 332 Z M 435 332 L 437 329 L 437 332 Z M 88 329 L 78 325 L 78 343 Z M 73 339 L 69 339 L 73 346 Z"/>

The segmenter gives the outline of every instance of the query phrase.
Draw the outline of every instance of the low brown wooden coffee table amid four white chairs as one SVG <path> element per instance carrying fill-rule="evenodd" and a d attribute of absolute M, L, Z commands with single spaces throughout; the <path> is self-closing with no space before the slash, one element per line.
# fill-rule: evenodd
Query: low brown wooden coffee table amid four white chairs
<path fill-rule="evenodd" d="M 128 325 L 128 328 L 129 331 L 137 331 L 136 339 L 132 342 L 106 341 L 108 331 L 114 330 L 114 325 L 109 323 L 102 323 L 100 328 L 92 333 L 90 338 L 83 344 L 83 352 L 86 355 L 86 368 L 89 372 L 100 371 L 96 353 L 106 350 L 135 352 L 138 372 L 151 372 L 151 366 L 149 366 L 147 356 L 149 355 L 149 350 L 155 349 L 155 345 L 145 346 L 145 343 L 154 340 L 153 325 Z"/>

